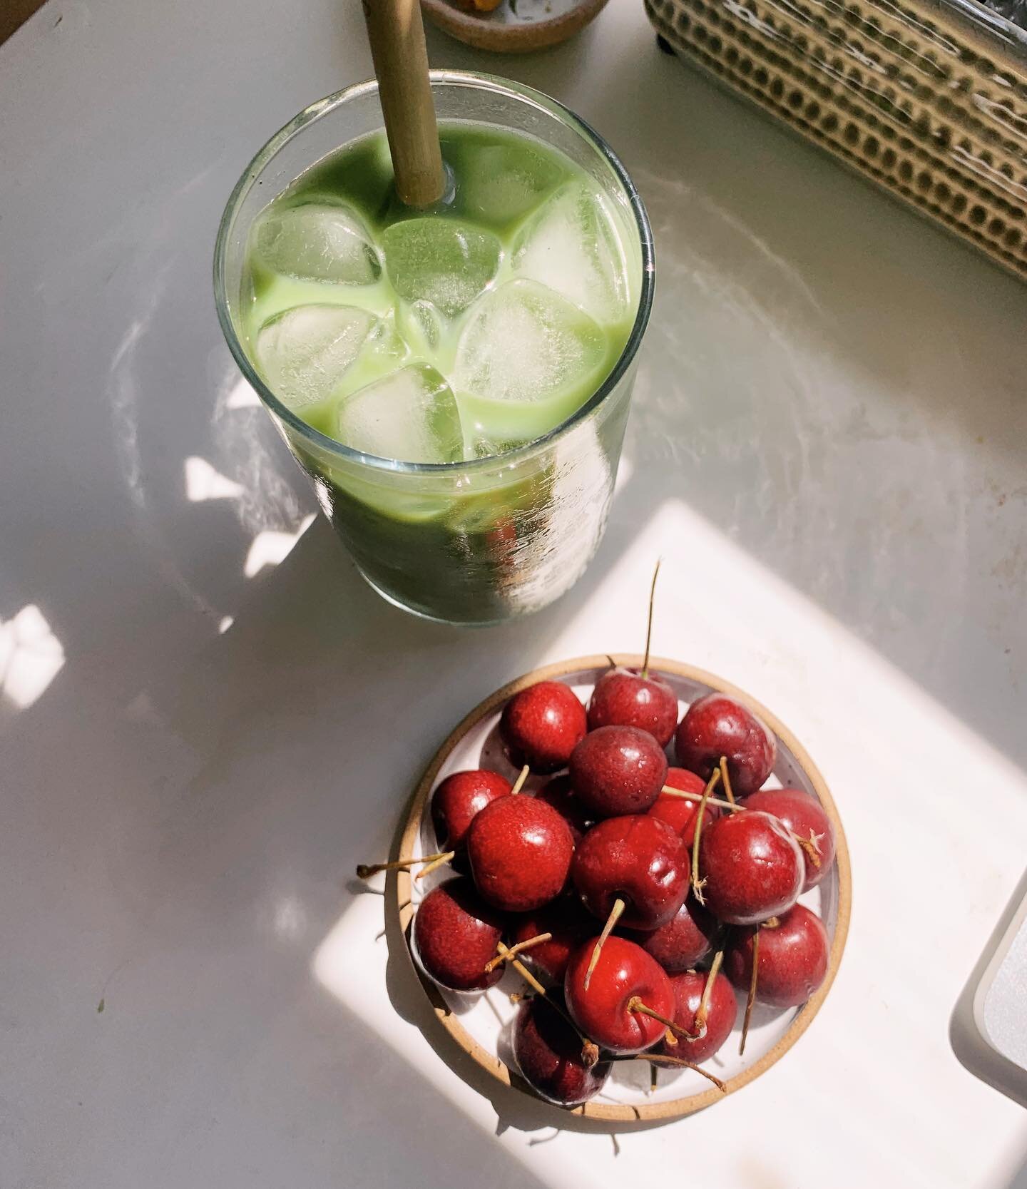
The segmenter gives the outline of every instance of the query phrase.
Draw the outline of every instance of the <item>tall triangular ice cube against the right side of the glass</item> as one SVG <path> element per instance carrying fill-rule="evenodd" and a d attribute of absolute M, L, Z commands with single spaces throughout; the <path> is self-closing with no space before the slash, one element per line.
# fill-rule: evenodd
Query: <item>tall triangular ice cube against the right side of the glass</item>
<path fill-rule="evenodd" d="M 514 245 L 515 272 L 549 285 L 599 322 L 628 309 L 628 269 L 603 200 L 581 182 L 557 190 Z"/>

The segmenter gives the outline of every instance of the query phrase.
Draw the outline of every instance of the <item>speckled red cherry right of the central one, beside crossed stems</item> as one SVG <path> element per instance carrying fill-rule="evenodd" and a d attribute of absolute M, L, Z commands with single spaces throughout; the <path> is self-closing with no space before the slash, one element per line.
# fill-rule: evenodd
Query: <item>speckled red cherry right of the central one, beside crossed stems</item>
<path fill-rule="evenodd" d="M 755 925 L 787 912 L 799 899 L 805 875 L 799 844 L 769 813 L 729 813 L 702 829 L 702 899 L 729 925 Z"/>

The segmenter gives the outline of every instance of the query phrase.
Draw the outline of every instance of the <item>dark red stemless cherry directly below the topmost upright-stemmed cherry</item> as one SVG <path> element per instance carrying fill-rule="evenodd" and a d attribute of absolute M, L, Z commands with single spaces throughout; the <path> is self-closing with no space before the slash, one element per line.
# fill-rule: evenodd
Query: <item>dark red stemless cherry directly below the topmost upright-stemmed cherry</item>
<path fill-rule="evenodd" d="M 663 748 L 637 726 L 600 726 L 571 754 L 574 794 L 593 817 L 644 813 L 666 776 Z"/>

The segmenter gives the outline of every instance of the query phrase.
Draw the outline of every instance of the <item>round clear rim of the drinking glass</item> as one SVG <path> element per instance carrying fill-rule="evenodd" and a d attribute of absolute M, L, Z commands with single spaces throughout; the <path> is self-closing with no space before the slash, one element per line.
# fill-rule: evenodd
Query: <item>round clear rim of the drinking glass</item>
<path fill-rule="evenodd" d="M 642 338 L 645 333 L 645 327 L 649 323 L 649 314 L 653 308 L 655 262 L 653 228 L 649 225 L 649 216 L 645 213 L 645 207 L 638 190 L 631 181 L 628 170 L 624 169 L 620 163 L 620 159 L 591 125 L 588 125 L 579 115 L 575 115 L 574 112 L 559 100 L 553 99 L 550 95 L 546 95 L 541 90 L 536 90 L 534 87 L 527 87 L 523 83 L 514 82 L 510 78 L 502 78 L 497 75 L 484 74 L 477 70 L 448 69 L 430 70 L 429 76 L 433 88 L 439 83 L 458 83 L 500 93 L 505 92 L 515 99 L 536 103 L 538 107 L 542 107 L 550 114 L 556 115 L 559 119 L 563 120 L 565 124 L 573 127 L 584 140 L 590 141 L 599 151 L 599 155 L 605 159 L 606 164 L 613 170 L 615 176 L 624 189 L 631 213 L 635 216 L 635 226 L 638 232 L 638 244 L 642 252 L 642 282 L 641 291 L 638 294 L 638 309 L 635 314 L 635 321 L 631 325 L 631 332 L 628 335 L 628 341 L 624 344 L 624 348 L 617 357 L 617 361 L 588 400 L 575 409 L 569 417 L 561 421 L 559 426 L 550 429 L 541 438 L 534 438 L 530 442 L 516 446 L 509 451 L 503 451 L 499 454 L 490 454 L 485 458 L 475 458 L 455 463 L 404 463 L 397 459 L 382 458 L 377 454 L 365 454 L 363 451 L 353 449 L 351 446 L 346 446 L 344 442 L 340 442 L 334 438 L 329 438 L 327 434 L 322 434 L 319 429 L 308 424 L 298 414 L 279 401 L 279 398 L 271 391 L 257 372 L 239 340 L 239 335 L 235 332 L 235 325 L 232 319 L 225 282 L 225 258 L 228 245 L 228 233 L 234 224 L 235 213 L 242 197 L 248 194 L 257 175 L 301 128 L 325 113 L 334 111 L 342 103 L 361 97 L 372 92 L 377 92 L 377 78 L 368 78 L 365 82 L 358 82 L 349 87 L 344 87 L 341 90 L 338 90 L 334 94 L 304 107 L 302 112 L 292 117 L 288 124 L 279 128 L 275 136 L 267 140 L 267 143 L 257 152 L 250 164 L 244 169 L 242 175 L 235 183 L 232 194 L 228 197 L 228 202 L 225 206 L 225 212 L 221 215 L 221 221 L 218 226 L 218 238 L 214 245 L 214 303 L 218 309 L 218 321 L 221 323 L 221 332 L 228 344 L 228 350 L 232 352 L 232 357 L 234 358 L 239 370 L 242 372 L 245 379 L 252 385 L 257 395 L 260 397 L 260 401 L 269 408 L 269 410 L 272 411 L 276 417 L 284 421 L 292 430 L 307 439 L 308 442 L 319 446 L 321 449 L 328 451 L 330 454 L 335 454 L 341 459 L 346 459 L 351 463 L 377 471 L 445 476 L 447 473 L 467 473 L 492 470 L 497 466 L 516 465 L 521 460 L 533 457 L 540 449 L 562 438 L 571 429 L 573 429 L 574 426 L 584 421 L 590 416 L 590 414 L 603 404 L 606 397 L 610 396 L 616 389 L 642 344 Z"/>

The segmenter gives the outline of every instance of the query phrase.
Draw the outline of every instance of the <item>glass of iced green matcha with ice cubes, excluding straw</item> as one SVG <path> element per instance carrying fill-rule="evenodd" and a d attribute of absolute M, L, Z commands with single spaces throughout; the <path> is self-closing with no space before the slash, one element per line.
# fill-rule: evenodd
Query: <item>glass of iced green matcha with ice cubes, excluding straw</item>
<path fill-rule="evenodd" d="M 378 87 L 262 149 L 218 235 L 225 336 L 386 599 L 449 623 L 546 606 L 605 527 L 653 240 L 631 180 L 555 100 L 436 70 L 447 188 L 395 195 Z"/>

